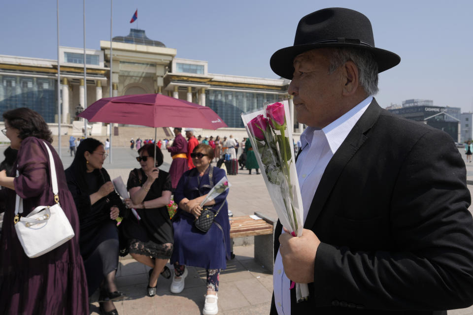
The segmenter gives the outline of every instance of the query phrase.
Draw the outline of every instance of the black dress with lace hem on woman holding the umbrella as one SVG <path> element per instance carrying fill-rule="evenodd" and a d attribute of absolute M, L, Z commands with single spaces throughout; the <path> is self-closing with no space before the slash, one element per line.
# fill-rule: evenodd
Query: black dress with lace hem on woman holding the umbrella
<path fill-rule="evenodd" d="M 141 187 L 146 179 L 144 171 L 141 168 L 135 168 L 130 172 L 127 189 Z M 144 201 L 161 197 L 164 190 L 172 190 L 171 179 L 169 173 L 159 170 L 159 176 L 151 185 Z M 140 217 L 139 221 L 131 214 L 120 224 L 122 236 L 126 240 L 121 243 L 120 254 L 125 255 L 131 252 L 168 259 L 172 253 L 172 246 L 165 246 L 165 244 L 173 244 L 174 237 L 167 207 L 136 209 L 136 212 Z"/>

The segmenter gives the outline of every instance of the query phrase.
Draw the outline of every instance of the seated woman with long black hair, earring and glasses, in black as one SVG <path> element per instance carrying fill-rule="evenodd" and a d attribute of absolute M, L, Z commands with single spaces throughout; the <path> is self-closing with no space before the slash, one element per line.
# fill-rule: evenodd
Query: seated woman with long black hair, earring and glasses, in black
<path fill-rule="evenodd" d="M 119 250 L 115 219 L 120 212 L 125 215 L 127 209 L 102 167 L 106 157 L 99 140 L 82 140 L 66 170 L 66 178 L 79 214 L 80 253 L 84 259 L 89 296 L 100 287 L 101 313 L 117 315 L 113 301 L 123 299 L 125 295 L 115 284 Z"/>

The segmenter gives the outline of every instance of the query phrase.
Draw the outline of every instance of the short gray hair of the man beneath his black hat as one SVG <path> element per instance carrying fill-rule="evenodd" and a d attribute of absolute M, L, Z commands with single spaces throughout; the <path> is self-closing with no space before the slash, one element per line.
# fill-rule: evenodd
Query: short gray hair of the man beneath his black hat
<path fill-rule="evenodd" d="M 365 49 L 334 48 L 330 52 L 329 73 L 333 73 L 347 61 L 352 61 L 357 65 L 360 85 L 366 93 L 369 95 L 378 93 L 378 65 L 372 54 Z"/>

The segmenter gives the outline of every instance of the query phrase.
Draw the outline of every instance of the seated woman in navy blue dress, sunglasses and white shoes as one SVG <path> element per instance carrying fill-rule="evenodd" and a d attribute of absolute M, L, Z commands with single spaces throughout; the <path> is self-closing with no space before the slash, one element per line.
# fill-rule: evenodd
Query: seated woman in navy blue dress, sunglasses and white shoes
<path fill-rule="evenodd" d="M 202 267 L 207 271 L 204 315 L 217 314 L 217 291 L 220 270 L 225 269 L 230 257 L 230 223 L 226 202 L 228 190 L 204 206 L 211 206 L 216 215 L 207 232 L 202 232 L 194 225 L 199 218 L 201 202 L 222 178 L 225 171 L 213 167 L 213 149 L 206 144 L 194 148 L 191 157 L 195 168 L 185 172 L 174 191 L 174 201 L 179 209 L 173 220 L 174 252 L 171 263 L 174 264 L 174 277 L 171 284 L 172 293 L 184 289 L 184 279 L 188 275 L 185 266 Z"/>

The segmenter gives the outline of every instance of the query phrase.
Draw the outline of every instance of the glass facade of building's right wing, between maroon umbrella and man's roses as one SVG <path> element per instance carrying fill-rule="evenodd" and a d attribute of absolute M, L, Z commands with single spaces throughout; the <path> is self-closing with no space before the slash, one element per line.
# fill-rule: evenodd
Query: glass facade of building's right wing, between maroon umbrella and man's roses
<path fill-rule="evenodd" d="M 234 128 L 244 127 L 241 121 L 241 113 L 280 100 L 277 94 L 225 90 L 206 90 L 205 99 L 205 105 L 214 110 L 227 126 Z"/>

